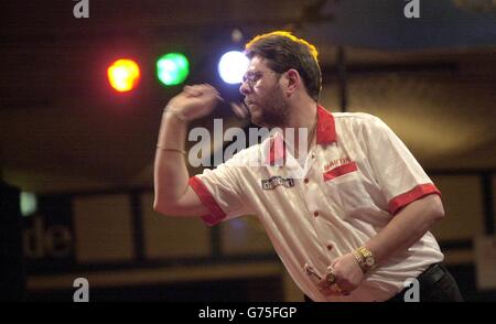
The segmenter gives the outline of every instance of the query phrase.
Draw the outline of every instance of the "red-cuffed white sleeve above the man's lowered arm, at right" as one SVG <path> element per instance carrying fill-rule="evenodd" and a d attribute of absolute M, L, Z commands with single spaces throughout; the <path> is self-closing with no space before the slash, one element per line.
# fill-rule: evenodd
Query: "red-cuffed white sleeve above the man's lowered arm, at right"
<path fill-rule="evenodd" d="M 430 194 L 441 195 L 405 143 L 379 118 L 364 119 L 367 160 L 388 201 L 389 213 Z"/>

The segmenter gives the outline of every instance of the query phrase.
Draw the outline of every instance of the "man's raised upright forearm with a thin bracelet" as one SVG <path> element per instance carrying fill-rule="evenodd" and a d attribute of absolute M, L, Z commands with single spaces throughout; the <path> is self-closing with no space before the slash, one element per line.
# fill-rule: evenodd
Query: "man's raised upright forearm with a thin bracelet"
<path fill-rule="evenodd" d="M 174 204 L 187 188 L 190 175 L 186 169 L 186 156 L 180 152 L 185 150 L 186 133 L 186 122 L 176 115 L 162 116 L 153 174 L 155 209 L 164 209 Z"/>

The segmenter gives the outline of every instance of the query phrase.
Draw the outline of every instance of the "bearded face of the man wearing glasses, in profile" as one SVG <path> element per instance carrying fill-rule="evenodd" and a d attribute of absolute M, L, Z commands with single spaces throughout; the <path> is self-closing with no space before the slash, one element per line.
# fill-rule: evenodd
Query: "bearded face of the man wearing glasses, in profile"
<path fill-rule="evenodd" d="M 265 58 L 251 58 L 239 91 L 245 95 L 255 125 L 283 128 L 288 123 L 289 105 L 280 85 L 280 74 L 271 71 Z"/>

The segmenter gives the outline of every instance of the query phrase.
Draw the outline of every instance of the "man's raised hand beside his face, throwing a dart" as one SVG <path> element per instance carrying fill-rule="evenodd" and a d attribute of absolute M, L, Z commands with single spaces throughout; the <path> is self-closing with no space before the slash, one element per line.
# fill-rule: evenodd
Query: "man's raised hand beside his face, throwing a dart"
<path fill-rule="evenodd" d="M 180 112 L 191 121 L 211 114 L 218 100 L 223 98 L 211 85 L 185 86 L 181 94 L 169 101 L 168 109 Z"/>

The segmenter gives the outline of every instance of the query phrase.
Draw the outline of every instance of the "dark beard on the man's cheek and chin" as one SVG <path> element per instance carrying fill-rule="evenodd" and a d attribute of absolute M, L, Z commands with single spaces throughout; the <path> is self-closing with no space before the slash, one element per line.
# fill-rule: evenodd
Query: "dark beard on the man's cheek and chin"
<path fill-rule="evenodd" d="M 289 121 L 289 105 L 284 100 L 281 89 L 274 86 L 263 99 L 257 100 L 259 114 L 251 114 L 251 122 L 267 128 L 284 128 Z"/>

